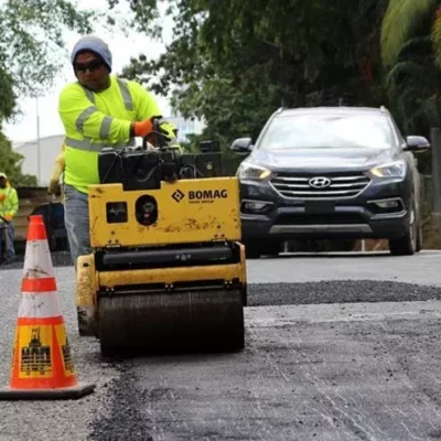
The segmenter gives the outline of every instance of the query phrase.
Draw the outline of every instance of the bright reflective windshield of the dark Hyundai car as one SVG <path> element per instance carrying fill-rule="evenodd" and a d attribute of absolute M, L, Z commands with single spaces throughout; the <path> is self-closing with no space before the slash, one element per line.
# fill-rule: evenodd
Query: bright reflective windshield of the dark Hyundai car
<path fill-rule="evenodd" d="M 384 116 L 298 115 L 275 118 L 259 142 L 259 148 L 388 149 L 392 144 L 392 129 Z"/>

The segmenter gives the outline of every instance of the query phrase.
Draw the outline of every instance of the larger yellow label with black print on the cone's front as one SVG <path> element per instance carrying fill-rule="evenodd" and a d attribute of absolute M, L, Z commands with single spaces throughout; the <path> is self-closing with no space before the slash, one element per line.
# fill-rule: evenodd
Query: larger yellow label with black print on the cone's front
<path fill-rule="evenodd" d="M 51 378 L 53 375 L 53 326 L 20 326 L 15 351 L 19 351 L 20 378 Z"/>

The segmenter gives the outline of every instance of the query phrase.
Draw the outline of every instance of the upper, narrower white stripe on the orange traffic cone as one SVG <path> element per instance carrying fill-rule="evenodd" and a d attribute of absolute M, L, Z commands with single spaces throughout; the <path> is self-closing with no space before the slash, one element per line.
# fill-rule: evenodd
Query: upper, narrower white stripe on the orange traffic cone
<path fill-rule="evenodd" d="M 23 277 L 26 279 L 54 277 L 54 267 L 47 240 L 28 240 Z"/>

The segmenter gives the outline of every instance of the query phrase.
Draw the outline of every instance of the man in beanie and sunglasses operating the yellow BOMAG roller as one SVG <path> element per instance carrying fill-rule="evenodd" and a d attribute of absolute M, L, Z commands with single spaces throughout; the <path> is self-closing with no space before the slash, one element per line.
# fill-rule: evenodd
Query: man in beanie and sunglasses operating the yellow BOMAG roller
<path fill-rule="evenodd" d="M 87 35 L 71 54 L 77 82 L 58 98 L 65 128 L 64 213 L 72 259 L 90 252 L 88 186 L 99 183 L 98 153 L 104 147 L 135 146 L 160 118 L 169 147 L 180 149 L 174 126 L 162 120 L 155 97 L 139 83 L 111 74 L 112 55 L 106 42 Z"/>

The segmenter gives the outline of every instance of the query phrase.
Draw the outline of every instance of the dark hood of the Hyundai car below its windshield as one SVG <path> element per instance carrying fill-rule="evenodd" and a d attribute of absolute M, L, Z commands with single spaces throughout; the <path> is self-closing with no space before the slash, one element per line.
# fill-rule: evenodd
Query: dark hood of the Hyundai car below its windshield
<path fill-rule="evenodd" d="M 394 161 L 394 149 L 292 149 L 279 151 L 255 150 L 247 162 L 263 165 L 272 171 L 286 169 L 362 169 Z"/>

